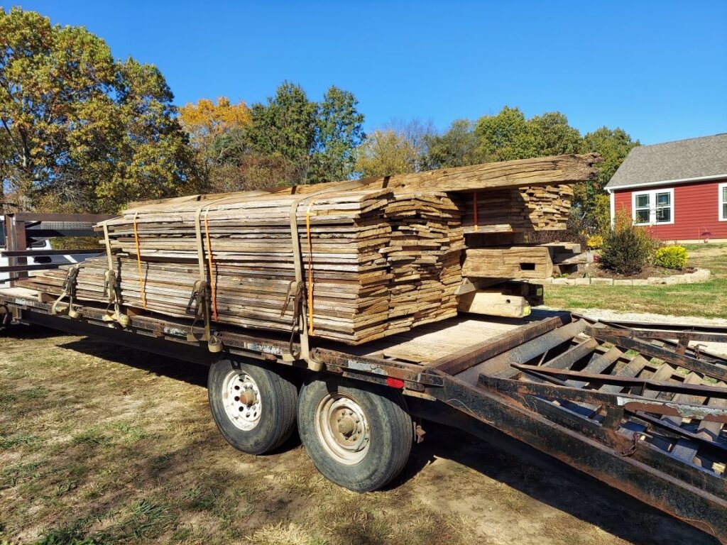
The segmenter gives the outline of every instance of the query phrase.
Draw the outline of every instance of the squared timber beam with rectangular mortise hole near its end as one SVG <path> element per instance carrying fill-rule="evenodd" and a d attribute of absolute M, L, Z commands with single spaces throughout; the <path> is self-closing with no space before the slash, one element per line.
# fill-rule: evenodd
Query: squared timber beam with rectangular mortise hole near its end
<path fill-rule="evenodd" d="M 553 260 L 543 246 L 468 248 L 462 263 L 467 278 L 550 278 Z"/>

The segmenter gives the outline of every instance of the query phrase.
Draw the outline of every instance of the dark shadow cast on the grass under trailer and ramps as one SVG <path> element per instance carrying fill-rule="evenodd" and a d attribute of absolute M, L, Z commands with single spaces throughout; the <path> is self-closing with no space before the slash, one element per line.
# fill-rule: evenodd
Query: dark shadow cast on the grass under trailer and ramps
<path fill-rule="evenodd" d="M 42 328 L 28 328 L 26 331 L 14 330 L 12 336 L 30 340 L 59 334 L 57 331 Z M 88 337 L 78 339 L 69 336 L 69 341 L 59 346 L 142 369 L 150 374 L 206 386 L 206 366 L 151 355 Z M 577 472 L 495 429 L 488 432 L 491 434 L 490 440 L 478 439 L 458 429 L 430 422 L 426 423 L 426 429 L 425 442 L 414 447 L 409 464 L 389 485 L 389 490 L 417 475 L 430 461 L 436 458 L 450 459 L 635 544 L 717 543 L 707 534 L 616 491 L 593 477 Z M 289 451 L 299 442 L 297 433 L 294 433 L 277 452 Z M 204 445 L 200 448 L 204 451 Z M 149 471 L 153 474 L 164 471 L 166 462 L 173 461 L 176 454 L 164 456 L 161 467 L 154 467 L 160 461 L 150 460 Z M 234 456 L 232 451 L 230 456 Z"/>

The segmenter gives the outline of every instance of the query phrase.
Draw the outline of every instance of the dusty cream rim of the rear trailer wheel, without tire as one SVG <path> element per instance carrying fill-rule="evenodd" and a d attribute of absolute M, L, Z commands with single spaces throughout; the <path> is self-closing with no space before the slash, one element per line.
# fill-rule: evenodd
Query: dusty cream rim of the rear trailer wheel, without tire
<path fill-rule="evenodd" d="M 328 394 L 321 400 L 316 409 L 316 433 L 325 451 L 341 464 L 358 464 L 369 452 L 366 413 L 347 395 Z"/>

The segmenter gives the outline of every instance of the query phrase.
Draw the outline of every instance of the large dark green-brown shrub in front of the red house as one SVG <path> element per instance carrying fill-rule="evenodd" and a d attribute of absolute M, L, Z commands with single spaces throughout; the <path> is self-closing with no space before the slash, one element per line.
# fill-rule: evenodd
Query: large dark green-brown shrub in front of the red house
<path fill-rule="evenodd" d="M 603 239 L 601 265 L 622 275 L 638 275 L 659 243 L 628 214 L 616 217 L 614 230 Z"/>

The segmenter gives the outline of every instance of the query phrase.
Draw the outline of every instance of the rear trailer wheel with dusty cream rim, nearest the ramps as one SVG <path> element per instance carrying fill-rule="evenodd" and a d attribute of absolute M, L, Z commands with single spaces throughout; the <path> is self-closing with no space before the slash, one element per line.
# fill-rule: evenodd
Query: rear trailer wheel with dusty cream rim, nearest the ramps
<path fill-rule="evenodd" d="M 302 387 L 298 431 L 318 471 L 355 492 L 376 490 L 398 475 L 413 440 L 401 393 L 343 380 Z"/>

